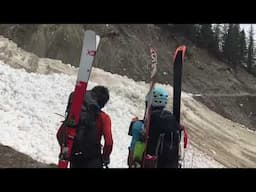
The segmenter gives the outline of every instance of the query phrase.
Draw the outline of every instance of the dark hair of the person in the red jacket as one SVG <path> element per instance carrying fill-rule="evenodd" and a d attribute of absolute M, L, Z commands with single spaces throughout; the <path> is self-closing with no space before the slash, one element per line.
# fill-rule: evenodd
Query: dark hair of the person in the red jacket
<path fill-rule="evenodd" d="M 100 108 L 103 108 L 109 100 L 109 91 L 107 87 L 98 85 L 92 88 L 92 93 L 97 100 Z"/>

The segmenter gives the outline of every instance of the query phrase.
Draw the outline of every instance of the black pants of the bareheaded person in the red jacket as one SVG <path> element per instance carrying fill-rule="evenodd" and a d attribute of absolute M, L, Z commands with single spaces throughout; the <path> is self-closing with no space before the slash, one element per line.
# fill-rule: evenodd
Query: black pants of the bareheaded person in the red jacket
<path fill-rule="evenodd" d="M 70 160 L 70 168 L 103 168 L 101 157 L 86 159 L 82 155 L 75 155 Z"/>

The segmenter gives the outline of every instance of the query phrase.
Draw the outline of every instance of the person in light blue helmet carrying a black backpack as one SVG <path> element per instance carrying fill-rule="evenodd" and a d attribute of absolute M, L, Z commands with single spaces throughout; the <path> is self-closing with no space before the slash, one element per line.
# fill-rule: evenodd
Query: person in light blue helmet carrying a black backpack
<path fill-rule="evenodd" d="M 144 143 L 144 121 L 138 118 L 133 119 L 129 131 L 129 135 L 132 136 L 128 155 L 129 167 L 142 167 L 145 161 L 144 153 L 146 157 L 153 157 L 155 168 L 179 167 L 180 130 L 184 129 L 184 126 L 178 125 L 175 116 L 165 109 L 168 97 L 169 94 L 163 87 L 155 86 L 145 98 L 146 108 L 148 103 L 151 103 L 147 149 Z M 187 134 L 185 139 L 187 140 Z M 150 164 L 152 166 L 152 162 Z"/>

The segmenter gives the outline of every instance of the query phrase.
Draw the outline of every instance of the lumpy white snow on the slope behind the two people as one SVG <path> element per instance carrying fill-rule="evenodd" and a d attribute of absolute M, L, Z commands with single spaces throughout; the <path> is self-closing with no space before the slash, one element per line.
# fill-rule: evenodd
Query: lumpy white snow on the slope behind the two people
<path fill-rule="evenodd" d="M 64 114 L 75 80 L 75 75 L 27 73 L 0 62 L 0 143 L 36 160 L 57 163 L 56 131 L 63 118 L 55 113 Z M 127 167 L 129 122 L 134 115 L 142 117 L 148 85 L 94 68 L 89 88 L 97 84 L 108 85 L 111 94 L 104 108 L 113 125 L 110 167 Z M 222 166 L 190 145 L 185 167 Z"/>

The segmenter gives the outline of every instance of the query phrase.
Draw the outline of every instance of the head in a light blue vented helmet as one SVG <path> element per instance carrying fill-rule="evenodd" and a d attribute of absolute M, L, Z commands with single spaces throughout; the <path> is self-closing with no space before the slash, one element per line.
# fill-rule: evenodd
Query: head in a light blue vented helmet
<path fill-rule="evenodd" d="M 155 86 L 152 90 L 152 107 L 165 107 L 168 102 L 168 92 L 160 87 Z M 146 96 L 146 105 L 149 100 L 149 95 Z"/>

